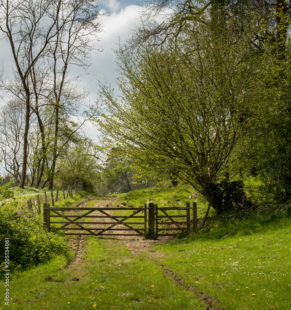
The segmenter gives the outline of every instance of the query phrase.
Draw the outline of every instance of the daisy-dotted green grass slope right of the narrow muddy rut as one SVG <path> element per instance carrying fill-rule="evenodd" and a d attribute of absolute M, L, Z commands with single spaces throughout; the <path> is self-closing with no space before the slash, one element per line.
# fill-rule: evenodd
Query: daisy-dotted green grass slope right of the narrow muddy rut
<path fill-rule="evenodd" d="M 226 308 L 290 310 L 291 220 L 254 223 L 241 223 L 235 236 L 217 238 L 213 230 L 154 250 L 164 255 L 160 263 Z"/>

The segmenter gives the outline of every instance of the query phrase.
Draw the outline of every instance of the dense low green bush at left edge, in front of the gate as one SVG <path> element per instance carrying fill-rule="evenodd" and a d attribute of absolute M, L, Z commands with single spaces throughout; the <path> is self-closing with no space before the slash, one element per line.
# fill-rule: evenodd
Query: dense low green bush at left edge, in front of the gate
<path fill-rule="evenodd" d="M 0 248 L 9 238 L 9 268 L 11 271 L 40 264 L 52 254 L 68 255 L 64 237 L 47 233 L 35 220 L 19 217 L 11 209 L 0 210 Z M 4 270 L 4 251 L 0 252 L 0 272 Z"/>

